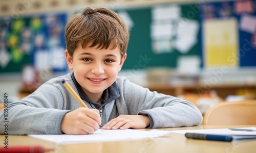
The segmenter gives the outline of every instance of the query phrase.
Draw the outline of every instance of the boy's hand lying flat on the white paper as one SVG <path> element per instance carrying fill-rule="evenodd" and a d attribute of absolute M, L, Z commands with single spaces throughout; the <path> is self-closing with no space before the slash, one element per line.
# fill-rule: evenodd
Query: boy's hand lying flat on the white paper
<path fill-rule="evenodd" d="M 106 123 L 102 129 L 144 129 L 148 125 L 150 125 L 150 118 L 147 115 L 120 115 Z"/>

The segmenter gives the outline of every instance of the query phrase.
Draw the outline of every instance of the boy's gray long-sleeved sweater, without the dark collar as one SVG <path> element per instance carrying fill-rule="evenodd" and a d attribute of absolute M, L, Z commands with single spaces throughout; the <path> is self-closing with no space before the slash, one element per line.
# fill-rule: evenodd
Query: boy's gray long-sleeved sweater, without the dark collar
<path fill-rule="evenodd" d="M 27 97 L 8 105 L 8 112 L 0 112 L 0 134 L 5 134 L 8 123 L 9 135 L 63 134 L 60 124 L 63 116 L 81 107 L 61 83 L 65 79 L 80 95 L 90 109 L 98 109 L 102 124 L 119 115 L 148 115 L 147 128 L 180 127 L 199 125 L 202 114 L 188 101 L 152 92 L 117 77 L 114 84 L 105 89 L 100 104 L 94 103 L 83 93 L 74 74 L 68 73 L 41 85 Z M 4 115 L 8 115 L 7 119 Z M 8 121 L 8 122 L 4 122 Z"/>

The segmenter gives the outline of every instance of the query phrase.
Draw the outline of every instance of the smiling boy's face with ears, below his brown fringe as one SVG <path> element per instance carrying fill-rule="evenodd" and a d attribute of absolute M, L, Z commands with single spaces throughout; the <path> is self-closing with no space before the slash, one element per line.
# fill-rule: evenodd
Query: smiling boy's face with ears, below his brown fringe
<path fill-rule="evenodd" d="M 103 91 L 115 82 L 126 59 L 126 54 L 121 58 L 119 47 L 111 50 L 112 45 L 108 49 L 88 47 L 90 44 L 83 49 L 78 45 L 72 58 L 68 50 L 65 52 L 68 66 L 74 71 L 77 82 L 94 101 L 99 100 Z"/>

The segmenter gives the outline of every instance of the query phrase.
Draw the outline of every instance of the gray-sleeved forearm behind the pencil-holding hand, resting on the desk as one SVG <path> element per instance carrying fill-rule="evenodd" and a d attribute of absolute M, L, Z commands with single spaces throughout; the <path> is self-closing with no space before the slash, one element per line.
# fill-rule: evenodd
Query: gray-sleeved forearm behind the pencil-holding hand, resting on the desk
<path fill-rule="evenodd" d="M 34 108 L 26 105 L 12 106 L 8 111 L 8 134 L 62 134 L 60 123 L 67 111 L 45 108 Z M 3 116 L 3 111 L 0 112 Z M 3 124 L 3 118 L 0 119 Z M 0 134 L 4 134 L 4 126 L 0 126 Z"/>

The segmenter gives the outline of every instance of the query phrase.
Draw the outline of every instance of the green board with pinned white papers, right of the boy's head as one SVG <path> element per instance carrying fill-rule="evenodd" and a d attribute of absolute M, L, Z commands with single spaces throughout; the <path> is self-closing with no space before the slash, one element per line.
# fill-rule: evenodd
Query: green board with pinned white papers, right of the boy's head
<path fill-rule="evenodd" d="M 130 28 L 122 69 L 177 66 L 179 56 L 200 55 L 196 4 L 165 4 L 116 9 Z"/>

